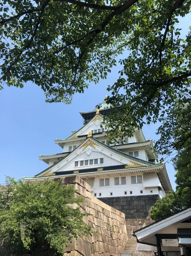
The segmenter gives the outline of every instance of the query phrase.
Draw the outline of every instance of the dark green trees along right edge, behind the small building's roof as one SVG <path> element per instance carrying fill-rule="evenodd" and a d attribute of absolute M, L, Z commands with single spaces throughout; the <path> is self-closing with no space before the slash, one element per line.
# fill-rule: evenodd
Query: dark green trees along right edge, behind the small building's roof
<path fill-rule="evenodd" d="M 181 106 L 170 112 L 171 126 L 164 124 L 166 129 L 160 130 L 163 138 L 167 139 L 163 149 L 165 154 L 170 150 L 177 150 L 178 154 L 173 160 L 176 170 L 176 191 L 170 192 L 159 199 L 151 211 L 151 217 L 156 221 L 178 210 L 191 206 L 191 104 Z M 168 125 L 168 126 L 167 126 Z M 168 131 L 167 131 L 168 129 Z M 160 145 L 161 146 L 161 145 Z"/>

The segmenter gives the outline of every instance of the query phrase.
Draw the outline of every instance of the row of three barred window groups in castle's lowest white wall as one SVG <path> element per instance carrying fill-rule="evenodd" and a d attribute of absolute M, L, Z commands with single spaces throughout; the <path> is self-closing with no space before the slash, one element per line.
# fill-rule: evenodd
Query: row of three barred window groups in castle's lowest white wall
<path fill-rule="evenodd" d="M 142 183 L 142 175 L 132 175 L 131 176 L 131 184 L 136 184 L 136 183 Z M 114 177 L 114 184 L 115 185 L 125 185 L 126 184 L 126 177 L 122 176 L 120 177 Z M 109 186 L 110 181 L 109 178 L 100 178 L 99 179 L 99 186 Z"/>

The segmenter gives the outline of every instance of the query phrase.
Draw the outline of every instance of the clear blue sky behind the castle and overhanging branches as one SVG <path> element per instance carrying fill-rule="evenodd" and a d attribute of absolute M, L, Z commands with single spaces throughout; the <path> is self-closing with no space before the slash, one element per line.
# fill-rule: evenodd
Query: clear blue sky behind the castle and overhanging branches
<path fill-rule="evenodd" d="M 184 31 L 188 30 L 189 18 L 190 15 L 182 24 Z M 79 112 L 92 111 L 102 103 L 107 86 L 115 82 L 117 76 L 117 69 L 113 69 L 107 80 L 91 84 L 84 94 L 74 95 L 71 105 L 45 103 L 43 91 L 32 83 L 23 89 L 5 86 L 0 92 L 0 183 L 4 183 L 5 175 L 18 180 L 47 168 L 38 156 L 62 152 L 54 140 L 65 139 L 73 129 L 83 126 Z M 146 140 L 157 140 L 156 128 L 156 125 L 143 127 Z M 167 163 L 166 167 L 175 189 L 175 170 L 172 164 Z"/>

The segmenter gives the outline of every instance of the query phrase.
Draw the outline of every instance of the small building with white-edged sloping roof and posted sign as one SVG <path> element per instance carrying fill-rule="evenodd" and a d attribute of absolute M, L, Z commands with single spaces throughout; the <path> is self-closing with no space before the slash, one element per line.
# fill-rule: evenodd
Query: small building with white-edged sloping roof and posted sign
<path fill-rule="evenodd" d="M 134 231 L 139 243 L 157 246 L 159 256 L 191 255 L 191 207 Z"/>

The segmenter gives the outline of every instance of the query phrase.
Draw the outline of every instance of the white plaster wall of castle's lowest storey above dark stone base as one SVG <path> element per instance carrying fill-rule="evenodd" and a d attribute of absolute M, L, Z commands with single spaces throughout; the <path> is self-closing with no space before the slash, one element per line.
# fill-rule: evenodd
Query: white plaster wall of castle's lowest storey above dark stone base
<path fill-rule="evenodd" d="M 125 185 L 115 185 L 115 179 L 114 177 L 120 177 L 121 176 L 126 177 L 126 184 Z M 96 193 L 96 197 L 123 197 L 123 196 L 138 196 L 138 195 L 153 195 L 153 194 L 159 194 L 158 188 L 152 188 L 152 193 L 150 192 L 150 189 L 145 189 L 143 187 L 142 183 L 136 183 L 131 184 L 131 175 L 115 175 L 115 176 L 100 176 L 95 177 L 94 179 L 94 186 L 91 187 L 92 195 L 94 196 L 94 193 Z M 100 178 L 110 178 L 110 185 L 109 186 L 99 186 L 99 179 Z M 142 193 L 140 192 L 142 190 Z M 125 195 L 125 191 L 127 194 Z M 132 194 L 130 194 L 130 191 L 132 191 Z M 110 195 L 110 192 L 113 193 L 113 195 Z M 101 193 L 101 196 L 99 196 L 99 193 Z"/>

